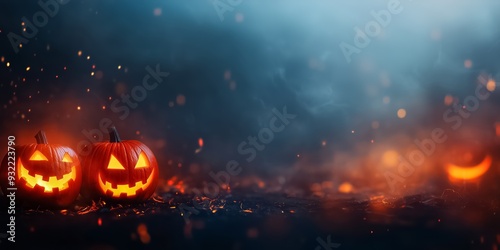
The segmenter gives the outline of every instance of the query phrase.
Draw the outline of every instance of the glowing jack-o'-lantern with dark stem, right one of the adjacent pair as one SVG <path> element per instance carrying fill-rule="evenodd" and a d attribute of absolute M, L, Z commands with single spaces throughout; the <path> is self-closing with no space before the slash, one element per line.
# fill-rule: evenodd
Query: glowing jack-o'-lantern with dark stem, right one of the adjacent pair
<path fill-rule="evenodd" d="M 82 160 L 82 194 L 90 199 L 144 201 L 158 183 L 158 163 L 153 152 L 135 140 L 121 141 L 113 127 L 109 142 L 92 145 Z"/>

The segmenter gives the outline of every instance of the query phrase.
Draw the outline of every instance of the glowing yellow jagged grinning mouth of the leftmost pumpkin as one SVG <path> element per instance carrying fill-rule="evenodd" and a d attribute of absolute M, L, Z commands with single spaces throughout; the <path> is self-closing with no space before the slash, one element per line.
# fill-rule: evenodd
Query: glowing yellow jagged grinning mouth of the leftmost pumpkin
<path fill-rule="evenodd" d="M 76 180 L 76 167 L 71 167 L 71 172 L 62 176 L 62 178 L 57 179 L 56 176 L 50 176 L 48 181 L 43 180 L 43 175 L 35 174 L 30 175 L 29 170 L 26 169 L 19 160 L 19 176 L 21 179 L 26 181 L 26 186 L 30 188 L 35 188 L 35 186 L 43 187 L 44 193 L 53 193 L 55 189 L 59 191 L 69 188 L 69 181 Z"/>

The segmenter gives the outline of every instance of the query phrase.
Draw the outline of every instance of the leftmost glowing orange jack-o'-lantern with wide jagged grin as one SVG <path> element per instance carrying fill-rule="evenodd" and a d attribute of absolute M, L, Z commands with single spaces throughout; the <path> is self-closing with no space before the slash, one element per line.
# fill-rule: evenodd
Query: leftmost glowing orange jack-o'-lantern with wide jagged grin
<path fill-rule="evenodd" d="M 82 170 L 78 156 L 69 147 L 48 144 L 43 131 L 36 136 L 37 143 L 15 147 L 15 187 L 20 200 L 33 205 L 65 207 L 78 196 Z M 11 155 L 12 156 L 12 155 Z M 2 191 L 7 188 L 8 171 L 13 159 L 5 155 L 0 170 Z M 10 167 L 10 168 L 9 168 Z"/>

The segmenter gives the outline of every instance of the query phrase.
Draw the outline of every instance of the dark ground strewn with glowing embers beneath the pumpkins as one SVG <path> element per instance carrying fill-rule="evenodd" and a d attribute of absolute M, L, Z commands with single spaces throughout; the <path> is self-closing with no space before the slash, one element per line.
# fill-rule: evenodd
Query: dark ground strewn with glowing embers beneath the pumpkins
<path fill-rule="evenodd" d="M 442 195 L 371 200 L 164 193 L 144 204 L 23 210 L 1 249 L 498 249 L 500 200 Z M 99 221 L 101 222 L 99 225 Z M 3 224 L 3 223 L 2 223 Z M 330 247 L 321 245 L 330 238 Z"/>

